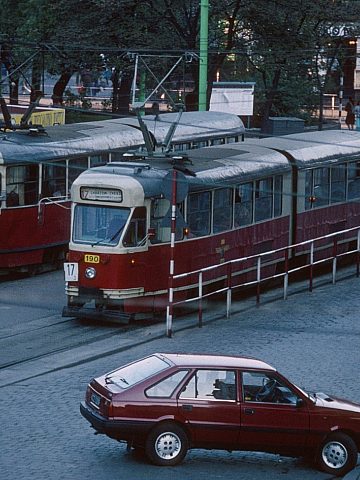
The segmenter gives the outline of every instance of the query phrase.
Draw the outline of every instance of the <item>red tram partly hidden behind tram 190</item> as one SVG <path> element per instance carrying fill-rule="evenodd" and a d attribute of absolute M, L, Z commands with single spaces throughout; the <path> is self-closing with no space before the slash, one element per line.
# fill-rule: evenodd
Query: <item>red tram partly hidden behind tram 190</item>
<path fill-rule="evenodd" d="M 157 149 L 176 114 L 146 116 Z M 172 138 L 175 151 L 238 142 L 236 115 L 186 112 Z M 143 148 L 136 118 L 0 132 L 0 274 L 38 272 L 64 259 L 70 236 L 70 188 L 84 170 Z"/>

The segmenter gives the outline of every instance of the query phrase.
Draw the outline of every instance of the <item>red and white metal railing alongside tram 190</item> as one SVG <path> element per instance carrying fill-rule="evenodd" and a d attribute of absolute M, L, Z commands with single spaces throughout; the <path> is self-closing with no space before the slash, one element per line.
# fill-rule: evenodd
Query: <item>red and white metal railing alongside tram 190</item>
<path fill-rule="evenodd" d="M 346 234 L 351 234 L 351 233 L 356 233 L 356 235 L 347 237 L 344 240 L 346 242 L 354 241 L 356 240 L 356 248 L 353 250 L 347 250 L 346 252 L 339 253 L 338 245 L 339 245 L 339 237 L 342 235 Z M 331 240 L 332 239 L 332 254 L 330 256 L 326 256 L 325 258 L 320 258 L 319 260 L 315 260 L 315 253 L 321 250 L 316 250 L 315 245 L 318 242 L 324 241 L 324 240 Z M 310 251 L 302 251 L 300 253 L 307 253 L 309 255 L 309 261 L 304 262 L 303 265 L 300 266 L 294 266 L 293 268 L 289 268 L 289 254 L 290 252 L 295 252 L 296 249 L 300 247 L 309 247 Z M 322 245 L 322 250 L 324 248 L 329 249 L 330 245 Z M 265 257 L 269 256 L 274 256 L 276 254 L 281 254 L 283 253 L 283 257 L 278 257 L 276 259 L 276 262 L 283 262 L 284 264 L 284 271 L 281 273 L 275 273 L 270 276 L 262 277 L 262 268 L 264 267 L 263 260 Z M 198 301 L 199 306 L 198 306 L 198 325 L 199 327 L 202 326 L 202 319 L 203 319 L 203 307 L 202 307 L 202 301 L 206 297 L 210 297 L 212 295 L 216 295 L 222 292 L 226 292 L 226 317 L 229 318 L 231 315 L 231 300 L 232 300 L 232 290 L 235 288 L 240 288 L 240 287 L 246 287 L 246 286 L 252 286 L 256 285 L 257 291 L 256 291 L 256 303 L 258 304 L 260 302 L 260 285 L 262 282 L 266 280 L 271 280 L 275 278 L 281 278 L 283 277 L 283 288 L 284 288 L 284 295 L 283 298 L 284 300 L 287 299 L 287 294 L 288 294 L 288 284 L 289 284 L 289 274 L 290 273 L 295 273 L 299 272 L 303 269 L 309 268 L 309 290 L 312 291 L 313 288 L 313 275 L 314 275 L 314 266 L 320 265 L 325 262 L 332 262 L 332 283 L 336 283 L 336 271 L 337 271 L 337 259 L 340 257 L 344 257 L 346 255 L 351 255 L 356 253 L 356 276 L 359 277 L 360 275 L 360 226 L 358 227 L 352 227 L 348 228 L 345 230 L 340 230 L 338 232 L 333 232 L 329 233 L 320 237 L 316 237 L 310 240 L 305 240 L 303 242 L 295 243 L 292 245 L 287 245 L 285 247 L 280 247 L 277 249 L 273 250 L 268 250 L 266 252 L 258 253 L 255 255 L 249 255 L 247 257 L 238 257 L 232 260 L 228 260 L 226 262 L 220 263 L 220 264 L 214 264 L 214 265 L 209 265 L 208 267 L 192 270 L 190 272 L 184 272 L 184 273 L 179 273 L 179 274 L 174 274 L 173 275 L 173 280 L 174 282 L 179 279 L 185 279 L 187 277 L 194 277 L 198 276 L 198 281 L 197 282 L 192 282 L 191 285 L 182 285 L 183 288 L 194 288 L 196 289 L 196 285 L 198 285 L 197 288 L 197 295 L 191 298 L 186 298 L 185 300 L 179 300 L 179 301 L 174 301 L 174 295 L 169 297 L 169 305 L 170 302 L 172 302 L 172 307 L 175 305 L 180 305 L 183 303 L 189 303 L 189 302 L 194 302 Z M 295 257 L 295 255 L 293 255 Z M 254 271 L 256 269 L 256 280 L 251 280 L 247 282 L 242 282 L 242 283 L 237 283 L 234 284 L 233 278 L 234 278 L 234 273 L 241 274 L 241 270 L 234 271 L 234 265 L 238 264 L 238 268 L 240 268 L 241 263 L 248 262 L 251 260 L 256 260 L 255 266 L 253 266 L 251 269 L 248 271 Z M 272 260 L 273 262 L 274 260 Z M 266 265 L 270 265 L 270 263 L 265 263 Z M 214 291 L 211 291 L 209 293 L 203 293 L 204 289 L 204 274 L 210 271 L 214 271 L 216 269 L 227 269 L 227 274 L 225 277 L 225 274 L 221 275 L 221 279 L 226 278 L 226 286 L 218 288 Z M 220 279 L 220 277 L 219 277 Z M 218 279 L 216 279 L 218 280 Z M 180 287 L 178 287 L 180 289 Z M 176 292 L 177 289 L 174 288 L 174 292 Z M 170 300 L 171 298 L 171 300 Z M 169 308 L 167 309 L 169 311 Z M 169 319 L 167 318 L 167 322 L 169 322 Z"/>

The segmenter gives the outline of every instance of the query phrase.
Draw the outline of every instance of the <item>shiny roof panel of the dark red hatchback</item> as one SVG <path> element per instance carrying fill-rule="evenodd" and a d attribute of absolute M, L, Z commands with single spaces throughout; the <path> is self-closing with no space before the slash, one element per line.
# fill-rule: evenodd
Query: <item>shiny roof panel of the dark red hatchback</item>
<path fill-rule="evenodd" d="M 246 368 L 276 371 L 268 363 L 252 357 L 190 353 L 156 353 L 156 355 L 179 367 Z"/>

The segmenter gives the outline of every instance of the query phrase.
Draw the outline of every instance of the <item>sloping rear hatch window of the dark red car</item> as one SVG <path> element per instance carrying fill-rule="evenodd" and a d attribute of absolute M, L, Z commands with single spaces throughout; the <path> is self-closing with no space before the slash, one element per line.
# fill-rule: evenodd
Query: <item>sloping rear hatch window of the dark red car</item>
<path fill-rule="evenodd" d="M 169 364 L 162 358 L 152 355 L 138 362 L 131 363 L 109 373 L 105 377 L 107 384 L 115 384 L 120 388 L 129 388 L 135 383 L 152 377 L 169 368 Z"/>

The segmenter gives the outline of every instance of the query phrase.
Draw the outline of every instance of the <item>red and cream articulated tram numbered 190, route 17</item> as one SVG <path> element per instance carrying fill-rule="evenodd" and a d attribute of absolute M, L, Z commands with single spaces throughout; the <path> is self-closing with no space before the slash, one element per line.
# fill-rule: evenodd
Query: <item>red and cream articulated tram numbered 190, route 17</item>
<path fill-rule="evenodd" d="M 76 179 L 64 316 L 126 320 L 164 309 L 173 168 L 187 191 L 177 206 L 175 274 L 360 225 L 356 132 L 249 140 L 177 161 L 119 161 Z"/>

